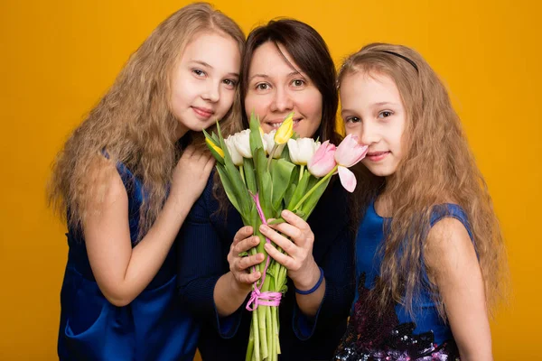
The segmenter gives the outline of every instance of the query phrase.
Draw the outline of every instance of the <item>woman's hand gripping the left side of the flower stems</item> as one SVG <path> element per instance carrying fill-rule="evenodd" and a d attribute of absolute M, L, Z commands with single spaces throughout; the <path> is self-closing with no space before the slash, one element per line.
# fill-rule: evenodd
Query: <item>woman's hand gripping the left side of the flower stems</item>
<path fill-rule="evenodd" d="M 233 285 L 238 290 L 243 292 L 250 292 L 252 289 L 252 283 L 260 279 L 261 273 L 248 273 L 250 267 L 256 264 L 260 264 L 264 261 L 264 255 L 248 255 L 240 256 L 244 252 L 248 252 L 250 248 L 259 244 L 259 237 L 252 236 L 252 227 L 242 227 L 238 230 L 233 238 L 233 243 L 229 247 L 228 263 L 229 271 L 233 274 Z"/>

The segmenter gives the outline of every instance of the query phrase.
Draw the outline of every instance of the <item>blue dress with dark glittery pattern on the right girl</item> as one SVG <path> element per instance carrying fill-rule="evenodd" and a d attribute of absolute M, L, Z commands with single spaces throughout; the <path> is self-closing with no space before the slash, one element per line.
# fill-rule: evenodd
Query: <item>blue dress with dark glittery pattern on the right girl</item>
<path fill-rule="evenodd" d="M 430 227 L 442 218 L 462 222 L 472 239 L 468 218 L 455 204 L 432 209 Z M 369 204 L 356 239 L 356 282 L 358 287 L 348 329 L 334 359 L 358 360 L 455 360 L 459 352 L 450 326 L 438 315 L 431 292 L 422 289 L 413 301 L 414 318 L 402 304 L 390 304 L 380 315 L 369 296 L 380 273 L 385 219 L 378 216 L 374 202 Z M 388 218 L 389 219 L 389 218 Z M 425 270 L 423 282 L 428 282 Z"/>

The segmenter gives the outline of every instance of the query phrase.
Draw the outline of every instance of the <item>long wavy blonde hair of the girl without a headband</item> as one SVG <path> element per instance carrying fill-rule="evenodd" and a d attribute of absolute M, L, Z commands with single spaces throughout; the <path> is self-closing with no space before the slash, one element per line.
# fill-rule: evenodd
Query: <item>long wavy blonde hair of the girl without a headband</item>
<path fill-rule="evenodd" d="M 132 54 L 113 86 L 79 127 L 70 134 L 52 165 L 49 204 L 69 227 L 82 226 L 90 199 L 103 199 L 105 185 L 99 180 L 104 152 L 113 162 L 122 162 L 143 182 L 144 203 L 140 208 L 138 240 L 153 225 L 163 208 L 172 171 L 182 153 L 175 139 L 171 78 L 186 45 L 202 32 L 218 32 L 238 43 L 245 35 L 238 24 L 206 3 L 182 7 L 173 13 Z M 239 117 L 238 91 L 229 113 L 221 120 L 225 132 Z M 210 131 L 213 129 L 211 128 Z M 182 143 L 203 147 L 201 133 L 185 134 Z M 104 167 L 101 167 L 104 168 Z"/>

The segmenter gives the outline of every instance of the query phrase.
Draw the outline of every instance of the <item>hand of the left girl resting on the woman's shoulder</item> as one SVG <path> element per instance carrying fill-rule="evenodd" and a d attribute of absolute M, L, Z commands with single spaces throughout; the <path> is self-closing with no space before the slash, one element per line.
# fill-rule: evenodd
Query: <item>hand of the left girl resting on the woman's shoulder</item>
<path fill-rule="evenodd" d="M 182 203 L 195 202 L 205 189 L 214 163 L 210 152 L 189 145 L 173 170 L 171 195 L 179 197 Z"/>

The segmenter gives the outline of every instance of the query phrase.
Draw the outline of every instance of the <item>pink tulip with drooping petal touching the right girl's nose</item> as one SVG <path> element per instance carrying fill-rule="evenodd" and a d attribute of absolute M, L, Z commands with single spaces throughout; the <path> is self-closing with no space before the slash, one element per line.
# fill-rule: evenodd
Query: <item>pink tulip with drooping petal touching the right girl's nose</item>
<path fill-rule="evenodd" d="M 358 143 L 358 137 L 348 134 L 337 147 L 335 161 L 339 165 L 339 179 L 342 187 L 350 193 L 356 189 L 356 176 L 348 168 L 360 162 L 367 154 L 367 145 Z"/>

